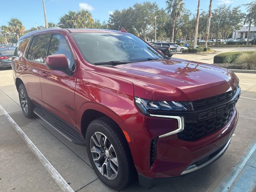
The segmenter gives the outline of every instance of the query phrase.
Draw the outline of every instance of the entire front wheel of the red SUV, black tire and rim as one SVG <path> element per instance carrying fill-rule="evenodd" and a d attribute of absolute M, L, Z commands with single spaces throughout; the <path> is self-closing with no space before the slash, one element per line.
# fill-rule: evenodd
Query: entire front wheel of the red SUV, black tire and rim
<path fill-rule="evenodd" d="M 120 128 L 112 120 L 101 117 L 89 124 L 86 150 L 94 172 L 108 187 L 123 190 L 132 182 L 135 168 L 130 149 Z"/>

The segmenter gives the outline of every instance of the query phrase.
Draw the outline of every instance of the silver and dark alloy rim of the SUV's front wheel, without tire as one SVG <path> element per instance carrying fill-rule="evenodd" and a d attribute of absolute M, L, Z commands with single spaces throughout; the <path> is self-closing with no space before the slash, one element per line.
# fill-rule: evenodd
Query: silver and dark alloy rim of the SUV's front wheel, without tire
<path fill-rule="evenodd" d="M 110 140 L 101 132 L 95 132 L 90 139 L 92 159 L 99 172 L 109 180 L 118 174 L 118 159 Z"/>

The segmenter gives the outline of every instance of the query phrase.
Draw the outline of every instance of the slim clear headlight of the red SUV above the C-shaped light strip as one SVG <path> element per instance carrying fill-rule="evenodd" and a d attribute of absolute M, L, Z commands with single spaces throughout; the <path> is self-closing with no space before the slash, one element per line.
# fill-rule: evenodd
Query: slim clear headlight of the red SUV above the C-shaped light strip
<path fill-rule="evenodd" d="M 151 112 L 164 111 L 192 111 L 191 102 L 177 102 L 177 101 L 152 101 L 138 97 L 134 97 L 135 104 L 143 114 L 150 114 Z"/>

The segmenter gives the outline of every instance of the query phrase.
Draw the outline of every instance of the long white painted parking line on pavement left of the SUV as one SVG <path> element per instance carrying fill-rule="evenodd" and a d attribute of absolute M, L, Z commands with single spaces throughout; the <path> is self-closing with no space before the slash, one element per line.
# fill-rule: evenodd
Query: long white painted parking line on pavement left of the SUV
<path fill-rule="evenodd" d="M 74 192 L 74 190 L 68 185 L 68 183 L 62 178 L 62 176 L 58 173 L 58 171 L 50 164 L 50 162 L 45 158 L 45 156 L 38 150 L 38 148 L 34 145 L 34 143 L 26 136 L 26 134 L 21 130 L 21 128 L 16 124 L 16 122 L 10 117 L 10 115 L 4 110 L 4 108 L 0 105 L 0 111 L 6 116 L 10 124 L 14 127 L 14 129 L 20 134 L 22 139 L 26 142 L 29 148 L 34 152 L 36 157 L 40 160 L 52 178 L 56 181 L 58 186 L 65 192 Z"/>

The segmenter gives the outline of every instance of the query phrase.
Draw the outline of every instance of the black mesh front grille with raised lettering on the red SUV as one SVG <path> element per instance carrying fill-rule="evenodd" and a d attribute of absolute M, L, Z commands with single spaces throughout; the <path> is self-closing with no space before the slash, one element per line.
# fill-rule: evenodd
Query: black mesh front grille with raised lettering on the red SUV
<path fill-rule="evenodd" d="M 240 88 L 214 97 L 193 101 L 194 112 L 184 113 L 182 140 L 198 139 L 228 123 L 240 96 Z"/>

